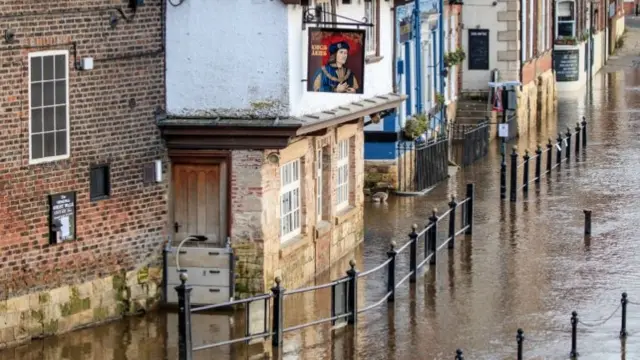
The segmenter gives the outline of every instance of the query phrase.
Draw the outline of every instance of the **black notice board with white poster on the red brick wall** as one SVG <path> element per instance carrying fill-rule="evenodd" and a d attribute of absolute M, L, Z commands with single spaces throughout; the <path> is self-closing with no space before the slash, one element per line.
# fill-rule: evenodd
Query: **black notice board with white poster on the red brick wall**
<path fill-rule="evenodd" d="M 76 193 L 49 195 L 49 243 L 76 239 Z"/>

